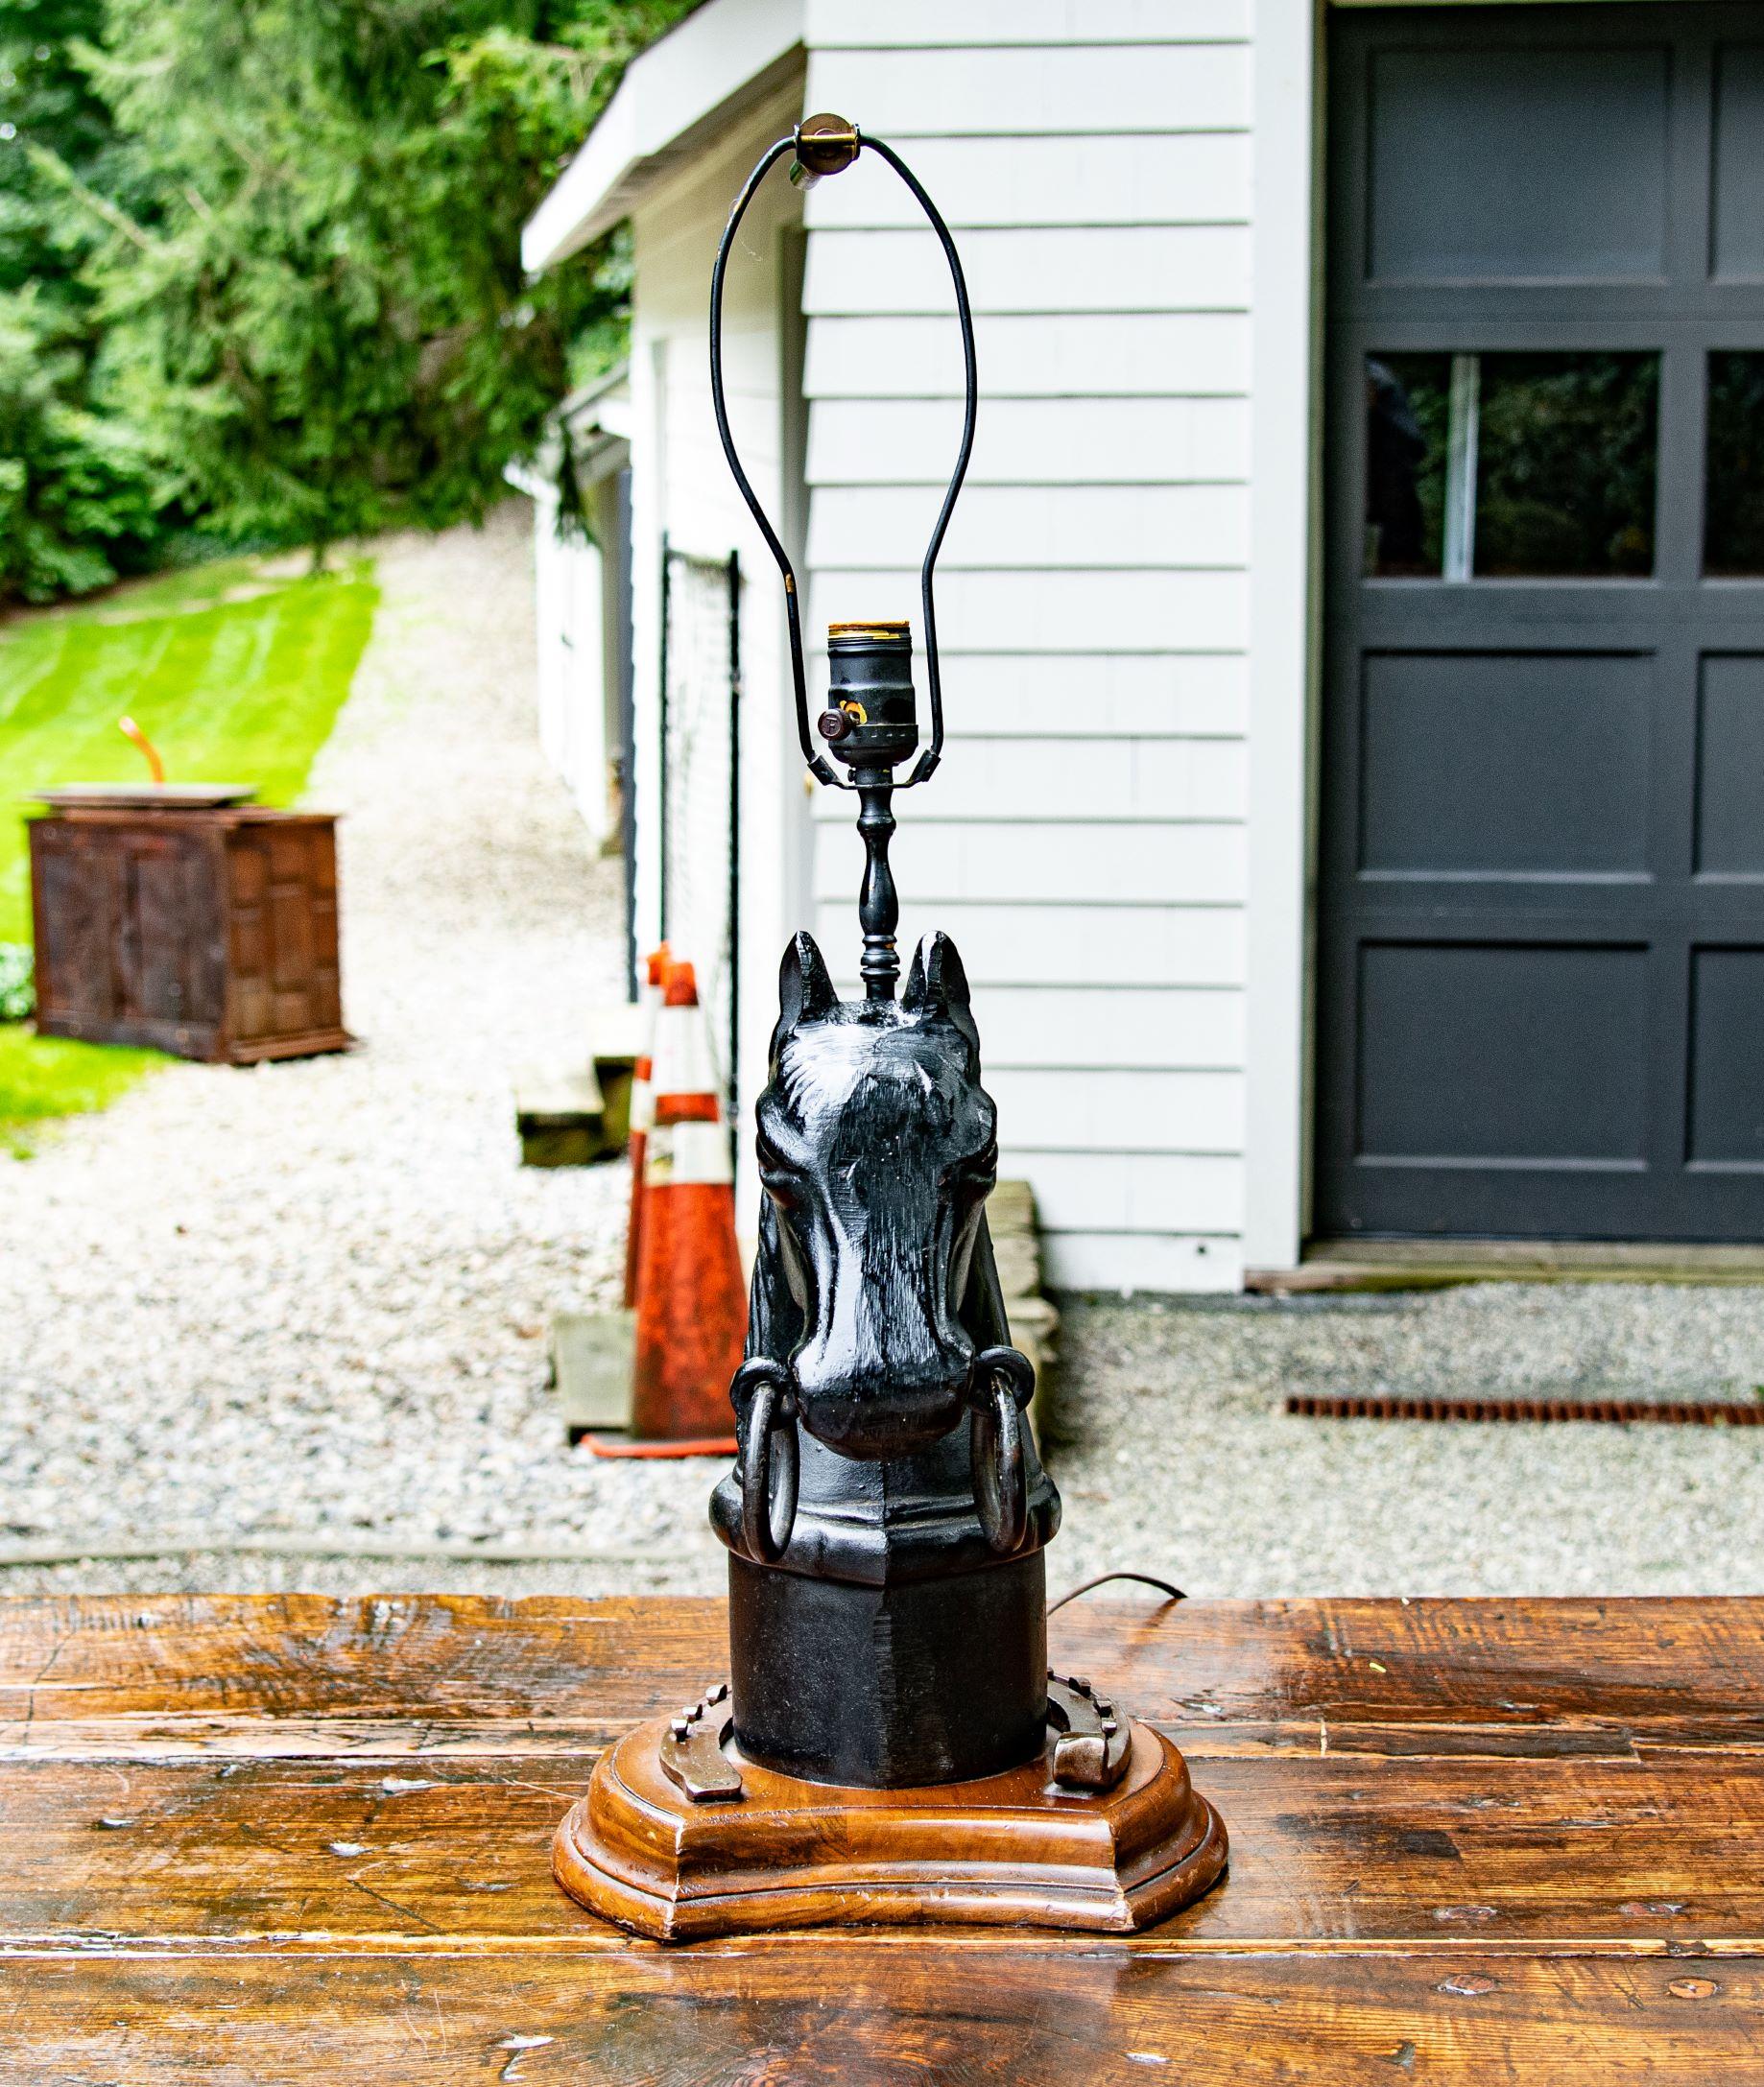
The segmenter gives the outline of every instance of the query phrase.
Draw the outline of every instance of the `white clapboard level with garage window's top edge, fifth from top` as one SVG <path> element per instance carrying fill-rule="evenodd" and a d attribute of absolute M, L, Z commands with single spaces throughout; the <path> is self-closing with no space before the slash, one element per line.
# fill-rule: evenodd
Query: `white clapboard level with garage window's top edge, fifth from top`
<path fill-rule="evenodd" d="M 1242 399 L 1250 388 L 1250 321 L 1240 311 L 981 313 L 981 401 Z M 954 315 L 825 315 L 808 340 L 810 399 L 960 399 L 962 336 Z"/>

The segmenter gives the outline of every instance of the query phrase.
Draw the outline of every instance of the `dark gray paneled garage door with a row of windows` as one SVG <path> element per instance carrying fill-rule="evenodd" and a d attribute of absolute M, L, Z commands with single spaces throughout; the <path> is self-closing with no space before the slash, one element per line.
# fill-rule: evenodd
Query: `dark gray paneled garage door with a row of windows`
<path fill-rule="evenodd" d="M 1319 1233 L 1764 1240 L 1764 8 L 1336 17 Z"/>

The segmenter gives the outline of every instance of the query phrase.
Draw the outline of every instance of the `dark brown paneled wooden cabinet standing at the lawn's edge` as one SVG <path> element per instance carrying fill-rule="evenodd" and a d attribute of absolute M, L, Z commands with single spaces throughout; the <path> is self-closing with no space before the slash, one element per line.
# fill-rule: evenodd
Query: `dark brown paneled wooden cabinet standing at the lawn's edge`
<path fill-rule="evenodd" d="M 330 814 L 50 803 L 31 822 L 40 1035 L 230 1064 L 349 1046 Z"/>

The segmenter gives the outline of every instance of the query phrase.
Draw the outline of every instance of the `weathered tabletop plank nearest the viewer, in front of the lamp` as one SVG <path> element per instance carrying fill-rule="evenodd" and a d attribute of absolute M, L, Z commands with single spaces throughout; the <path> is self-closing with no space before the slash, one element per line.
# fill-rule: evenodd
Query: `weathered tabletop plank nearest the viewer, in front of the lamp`
<path fill-rule="evenodd" d="M 568 1962 L 374 1956 L 33 1960 L 0 2016 L 8 2079 L 132 2087 L 1073 2087 L 1246 2079 L 1764 2077 L 1764 1966 L 1417 1958 L 1232 1964 L 1113 1943 L 937 1937 L 647 1947 Z"/>

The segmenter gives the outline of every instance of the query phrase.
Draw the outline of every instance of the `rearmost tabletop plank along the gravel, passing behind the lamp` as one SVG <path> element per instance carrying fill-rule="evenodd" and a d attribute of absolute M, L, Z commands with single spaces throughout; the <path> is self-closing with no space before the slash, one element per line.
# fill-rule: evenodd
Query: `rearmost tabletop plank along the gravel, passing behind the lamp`
<path fill-rule="evenodd" d="M 1058 1588 L 1058 1551 L 1052 1555 Z M 1764 1745 L 1764 1601 L 1086 1599 L 1054 1657 L 1184 1732 L 1257 1726 L 1330 1751 L 1353 1728 L 1522 1728 Z M 27 1597 L 0 1603 L 0 1745 L 52 1726 L 576 1722 L 599 1745 L 724 1665 L 718 1601 L 470 1594 Z M 292 1724 L 290 1724 L 292 1730 Z M 509 1745 L 522 1745 L 518 1732 Z M 1580 1741 L 1572 1741 L 1580 1745 Z M 1386 1743 L 1380 1741 L 1380 1751 Z"/>

